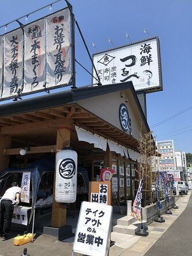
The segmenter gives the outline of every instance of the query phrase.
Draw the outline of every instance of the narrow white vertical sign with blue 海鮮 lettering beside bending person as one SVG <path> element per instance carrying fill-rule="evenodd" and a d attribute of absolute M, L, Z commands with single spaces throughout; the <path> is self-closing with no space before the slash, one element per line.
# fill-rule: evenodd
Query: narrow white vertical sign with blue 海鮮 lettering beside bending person
<path fill-rule="evenodd" d="M 29 203 L 31 172 L 23 172 L 21 181 L 21 202 Z"/>

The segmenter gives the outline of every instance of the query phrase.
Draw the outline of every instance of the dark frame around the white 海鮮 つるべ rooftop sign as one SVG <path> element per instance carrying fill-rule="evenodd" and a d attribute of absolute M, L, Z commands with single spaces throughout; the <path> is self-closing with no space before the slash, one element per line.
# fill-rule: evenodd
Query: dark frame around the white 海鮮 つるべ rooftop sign
<path fill-rule="evenodd" d="M 158 36 L 149 37 L 149 38 L 144 39 L 144 40 L 140 40 L 140 41 L 133 42 L 133 43 L 130 43 L 130 44 L 125 44 L 123 46 L 114 47 L 114 48 L 110 48 L 110 49 L 107 49 L 107 50 L 95 52 L 94 54 L 92 54 L 92 60 L 94 62 L 95 55 L 107 54 L 108 52 L 114 51 L 114 50 L 121 51 L 121 48 L 123 48 L 123 47 L 130 47 L 130 46 L 133 47 L 134 44 L 145 43 L 145 42 L 147 42 L 149 40 L 154 40 L 154 39 L 156 39 L 156 43 L 157 43 L 157 61 L 158 61 L 158 68 L 159 68 L 159 86 L 152 86 L 149 89 L 147 89 L 147 88 L 137 89 L 135 91 L 136 92 L 144 92 L 144 93 L 152 93 L 152 92 L 163 91 L 163 80 L 162 80 L 162 69 L 161 69 L 161 55 L 160 55 L 160 42 L 159 42 L 159 37 Z M 94 69 L 93 69 L 93 65 L 92 65 L 92 75 L 94 76 L 93 71 L 94 71 Z M 91 81 L 92 84 L 93 84 L 93 76 L 92 76 L 92 81 Z M 131 81 L 131 80 L 129 80 L 129 81 Z M 117 83 L 119 83 L 119 82 L 117 82 Z M 114 83 L 114 85 L 117 84 L 117 83 Z"/>

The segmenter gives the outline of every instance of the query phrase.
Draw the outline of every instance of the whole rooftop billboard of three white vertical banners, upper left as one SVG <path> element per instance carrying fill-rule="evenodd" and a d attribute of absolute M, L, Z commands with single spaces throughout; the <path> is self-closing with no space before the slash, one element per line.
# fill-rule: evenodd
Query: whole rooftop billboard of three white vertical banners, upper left
<path fill-rule="evenodd" d="M 65 8 L 0 37 L 0 101 L 73 84 L 71 24 Z"/>

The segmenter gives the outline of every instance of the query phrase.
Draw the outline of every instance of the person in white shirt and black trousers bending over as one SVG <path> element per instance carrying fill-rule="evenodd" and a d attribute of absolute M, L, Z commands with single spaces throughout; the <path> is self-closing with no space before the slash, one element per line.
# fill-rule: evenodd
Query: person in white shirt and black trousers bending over
<path fill-rule="evenodd" d="M 20 202 L 20 193 L 21 188 L 18 187 L 17 182 L 13 182 L 11 187 L 5 191 L 1 199 L 0 206 L 0 238 L 2 240 L 7 239 L 7 235 L 9 234 L 11 225 L 12 225 L 12 217 L 14 204 L 18 205 Z"/>

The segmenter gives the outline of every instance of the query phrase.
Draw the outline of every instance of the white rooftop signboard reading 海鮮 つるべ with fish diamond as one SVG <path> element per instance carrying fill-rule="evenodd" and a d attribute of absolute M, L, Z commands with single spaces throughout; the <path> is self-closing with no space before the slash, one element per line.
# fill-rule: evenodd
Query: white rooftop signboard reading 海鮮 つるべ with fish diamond
<path fill-rule="evenodd" d="M 135 91 L 162 91 L 158 37 L 93 54 L 102 85 L 132 81 Z M 97 84 L 93 69 L 93 84 Z"/>

